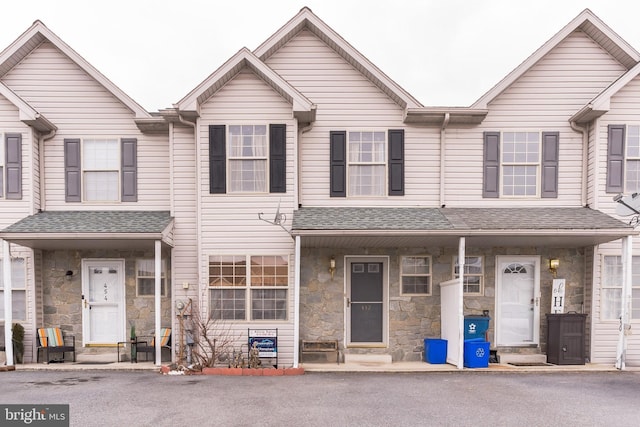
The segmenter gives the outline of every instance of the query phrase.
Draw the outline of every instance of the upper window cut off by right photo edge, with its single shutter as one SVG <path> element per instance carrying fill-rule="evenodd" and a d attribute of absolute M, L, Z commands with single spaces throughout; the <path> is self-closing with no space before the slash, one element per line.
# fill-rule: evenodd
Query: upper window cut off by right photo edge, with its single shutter
<path fill-rule="evenodd" d="M 609 125 L 607 192 L 640 191 L 640 126 Z"/>

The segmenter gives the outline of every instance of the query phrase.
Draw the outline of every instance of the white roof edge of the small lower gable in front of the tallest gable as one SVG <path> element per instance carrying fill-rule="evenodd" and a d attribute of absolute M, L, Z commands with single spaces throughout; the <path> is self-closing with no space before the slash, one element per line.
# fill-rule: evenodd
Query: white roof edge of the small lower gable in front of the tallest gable
<path fill-rule="evenodd" d="M 178 101 L 174 107 L 180 112 L 184 112 L 186 116 L 198 115 L 200 105 L 244 68 L 249 68 L 280 96 L 290 102 L 293 106 L 293 114 L 298 120 L 307 123 L 315 120 L 315 105 L 247 48 L 240 49 L 187 96 Z"/>

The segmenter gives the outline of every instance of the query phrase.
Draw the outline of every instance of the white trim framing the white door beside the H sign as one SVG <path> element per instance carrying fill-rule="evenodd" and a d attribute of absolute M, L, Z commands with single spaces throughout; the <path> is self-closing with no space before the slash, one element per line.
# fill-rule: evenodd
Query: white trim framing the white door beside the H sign
<path fill-rule="evenodd" d="M 504 335 L 504 328 L 501 325 L 502 319 L 502 265 L 506 263 L 533 263 L 534 275 L 533 275 L 533 292 L 532 309 L 533 309 L 533 321 L 532 328 L 532 340 L 530 342 L 509 342 L 502 337 Z M 508 346 L 508 347 L 527 347 L 540 344 L 540 256 L 539 255 L 497 255 L 496 256 L 496 345 Z"/>

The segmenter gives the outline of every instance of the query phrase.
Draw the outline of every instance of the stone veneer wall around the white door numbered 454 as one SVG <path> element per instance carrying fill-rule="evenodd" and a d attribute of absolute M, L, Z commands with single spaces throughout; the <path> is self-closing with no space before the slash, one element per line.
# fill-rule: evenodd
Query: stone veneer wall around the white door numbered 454
<path fill-rule="evenodd" d="M 131 322 L 135 323 L 138 335 L 151 335 L 155 326 L 155 298 L 136 296 L 136 260 L 153 259 L 154 251 L 43 251 L 43 318 L 38 326 L 60 326 L 65 332 L 75 335 L 76 352 L 112 352 L 111 348 L 82 347 L 82 259 L 107 258 L 125 260 L 126 337 L 129 337 Z M 162 297 L 162 326 L 171 326 L 171 271 L 169 254 L 163 252 L 167 262 L 167 295 Z M 67 277 L 67 271 L 73 276 Z"/>

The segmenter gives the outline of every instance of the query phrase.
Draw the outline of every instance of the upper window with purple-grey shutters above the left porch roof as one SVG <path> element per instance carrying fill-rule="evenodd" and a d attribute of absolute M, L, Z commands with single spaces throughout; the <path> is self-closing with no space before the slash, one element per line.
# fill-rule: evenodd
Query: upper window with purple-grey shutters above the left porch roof
<path fill-rule="evenodd" d="M 65 201 L 135 202 L 137 140 L 64 140 Z"/>

